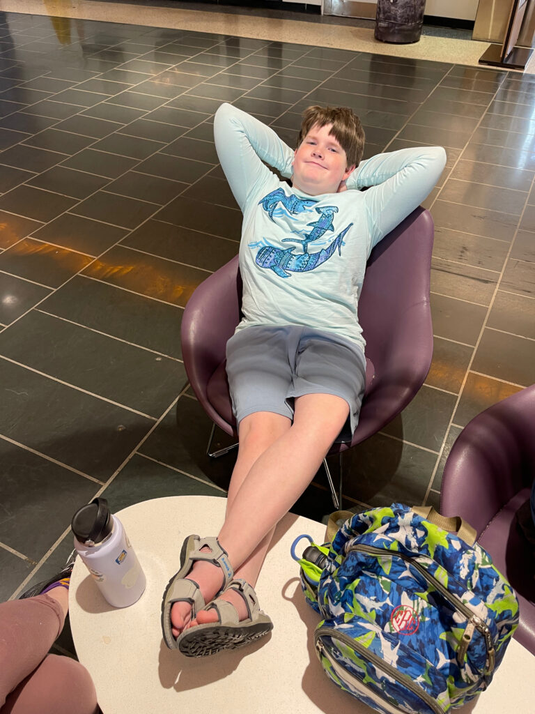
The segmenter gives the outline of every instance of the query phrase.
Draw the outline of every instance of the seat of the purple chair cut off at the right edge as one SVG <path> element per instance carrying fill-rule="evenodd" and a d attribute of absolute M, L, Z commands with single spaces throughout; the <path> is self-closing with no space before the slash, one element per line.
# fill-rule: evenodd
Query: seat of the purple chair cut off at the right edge
<path fill-rule="evenodd" d="M 479 538 L 496 568 L 516 591 L 520 624 L 515 639 L 535 654 L 535 555 L 516 520 L 516 512 L 529 501 L 531 490 L 523 488 L 496 513 Z"/>

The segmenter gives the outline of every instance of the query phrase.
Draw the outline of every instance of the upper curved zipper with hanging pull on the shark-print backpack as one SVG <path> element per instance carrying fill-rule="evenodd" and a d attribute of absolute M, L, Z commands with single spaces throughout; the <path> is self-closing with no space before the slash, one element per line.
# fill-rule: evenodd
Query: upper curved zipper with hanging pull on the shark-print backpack
<path fill-rule="evenodd" d="M 492 642 L 492 636 L 491 636 L 491 631 L 489 630 L 489 626 L 484 623 L 481 618 L 479 618 L 477 615 L 474 615 L 474 612 L 463 603 L 463 601 L 457 597 L 457 595 L 454 595 L 454 593 L 450 593 L 447 588 L 442 585 L 442 583 L 437 580 L 437 578 L 434 577 L 427 568 L 424 568 L 423 565 L 420 565 L 420 563 L 417 562 L 414 558 L 409 558 L 408 555 L 404 555 L 403 553 L 399 553 L 398 550 L 384 550 L 383 548 L 374 548 L 373 545 L 362 545 L 357 543 L 357 545 L 351 545 L 350 548 L 347 548 L 346 553 L 351 553 L 352 551 L 357 551 L 360 553 L 370 553 L 370 555 L 389 555 L 391 558 L 402 558 L 406 563 L 410 563 L 411 565 L 414 565 L 414 568 L 418 570 L 419 573 L 421 573 L 424 576 L 424 579 L 427 580 L 428 583 L 431 583 L 434 588 L 436 588 L 439 593 L 444 595 L 444 598 L 449 601 L 449 603 L 452 603 L 457 610 L 459 610 L 465 618 L 468 620 L 468 624 L 466 628 L 464 629 L 464 633 L 461 638 L 461 642 L 459 643 L 459 647 L 457 648 L 457 662 L 459 663 L 460 666 L 464 665 L 464 656 L 467 654 L 468 648 L 470 643 L 472 642 L 472 637 L 474 636 L 474 630 L 477 630 L 481 635 L 483 635 L 483 638 L 485 640 L 485 648 L 486 648 L 486 663 L 485 663 L 485 669 L 484 669 L 484 675 L 489 675 L 491 672 L 494 670 L 494 663 L 495 663 L 495 650 L 494 650 L 494 643 Z"/>

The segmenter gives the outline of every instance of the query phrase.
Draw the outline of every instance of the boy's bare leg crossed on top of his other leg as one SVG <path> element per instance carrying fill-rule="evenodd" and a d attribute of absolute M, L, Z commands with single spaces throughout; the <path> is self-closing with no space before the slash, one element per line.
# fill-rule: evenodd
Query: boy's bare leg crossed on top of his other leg
<path fill-rule="evenodd" d="M 325 454 L 340 433 L 348 413 L 347 402 L 337 396 L 308 394 L 296 398 L 291 428 L 286 429 L 254 461 L 234 495 L 218 536 L 238 577 L 255 584 L 273 529 L 314 478 Z M 242 425 L 245 426 L 245 419 Z M 245 436 L 244 441 L 247 440 L 248 436 Z M 203 565 L 207 567 L 202 579 L 208 576 L 208 569 L 218 573 L 218 582 L 215 588 L 211 588 L 213 598 L 220 588 L 221 574 L 214 565 Z M 200 579 L 195 578 L 197 582 Z M 199 582 L 199 585 L 202 591 L 203 583 Z M 225 593 L 224 597 L 238 605 L 238 615 L 243 619 L 243 601 L 236 602 L 241 600 L 240 596 Z M 209 601 L 208 598 L 210 593 L 207 593 L 206 602 Z M 185 626 L 215 620 L 217 613 L 213 610 L 201 611 L 196 620 L 185 623 Z M 173 624 L 178 624 L 174 618 Z"/>

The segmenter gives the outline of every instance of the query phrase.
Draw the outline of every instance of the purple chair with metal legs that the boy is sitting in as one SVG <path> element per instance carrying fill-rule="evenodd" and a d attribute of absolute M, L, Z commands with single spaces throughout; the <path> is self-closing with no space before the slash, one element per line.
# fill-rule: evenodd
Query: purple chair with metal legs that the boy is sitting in
<path fill-rule="evenodd" d="M 325 461 L 335 508 L 342 503 L 342 452 L 376 433 L 412 400 L 429 371 L 433 351 L 429 278 L 434 226 L 417 208 L 373 249 L 359 299 L 366 346 L 366 390 L 351 443 L 333 444 L 340 455 L 338 494 Z M 215 425 L 237 436 L 225 373 L 225 346 L 240 321 L 238 256 L 198 286 L 184 311 L 182 351 L 186 373 Z"/>

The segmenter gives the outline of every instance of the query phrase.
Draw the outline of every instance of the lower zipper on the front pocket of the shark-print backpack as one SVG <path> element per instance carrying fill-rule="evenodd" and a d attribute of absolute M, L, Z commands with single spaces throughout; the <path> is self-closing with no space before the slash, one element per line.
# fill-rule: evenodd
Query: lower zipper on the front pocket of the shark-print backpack
<path fill-rule="evenodd" d="M 320 655 L 325 655 L 325 657 L 329 660 L 329 662 L 332 665 L 332 668 L 335 670 L 337 673 L 337 676 L 340 677 L 340 679 L 344 678 L 349 678 L 350 680 L 354 680 L 357 683 L 357 686 L 355 688 L 357 689 L 362 689 L 362 680 L 357 677 L 357 675 L 352 674 L 348 670 L 342 667 L 340 663 L 335 660 L 335 658 L 332 657 L 331 653 L 327 648 L 325 648 L 325 645 L 322 643 L 320 640 L 320 637 L 322 635 L 327 635 L 328 637 L 335 639 L 335 640 L 340 640 L 341 642 L 345 643 L 348 647 L 357 650 L 357 652 L 360 655 L 363 655 L 367 660 L 370 660 L 372 665 L 375 667 L 378 667 L 379 669 L 382 669 L 389 677 L 392 679 L 396 680 L 397 683 L 403 685 L 404 687 L 407 687 L 407 689 L 411 690 L 412 693 L 416 694 L 422 701 L 424 701 L 427 706 L 434 712 L 434 714 L 444 714 L 444 709 L 437 704 L 437 701 L 432 698 L 431 695 L 427 694 L 426 691 L 424 691 L 421 687 L 419 687 L 417 684 L 415 684 L 411 678 L 409 678 L 408 675 L 402 675 L 398 672 L 398 670 L 393 666 L 385 662 L 382 658 L 379 657 L 379 655 L 376 655 L 373 652 L 370 652 L 368 648 L 366 648 L 364 645 L 361 645 L 360 642 L 357 642 L 357 640 L 354 640 L 352 637 L 349 635 L 345 635 L 344 633 L 337 632 L 336 630 L 333 630 L 332 628 L 327 628 L 327 627 L 322 627 L 316 630 L 315 632 L 315 645 L 317 651 L 320 653 Z M 370 690 L 373 691 L 373 690 Z M 379 697 L 381 695 L 377 693 Z M 384 699 L 383 697 L 381 697 Z M 389 706 L 390 705 L 388 702 L 386 702 Z M 402 709 L 397 709 L 397 708 L 392 708 L 392 712 L 399 712 L 402 713 Z"/>

